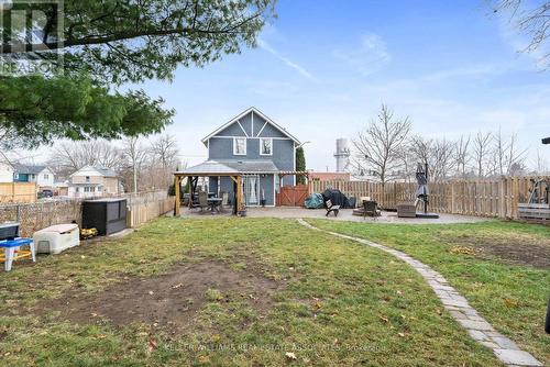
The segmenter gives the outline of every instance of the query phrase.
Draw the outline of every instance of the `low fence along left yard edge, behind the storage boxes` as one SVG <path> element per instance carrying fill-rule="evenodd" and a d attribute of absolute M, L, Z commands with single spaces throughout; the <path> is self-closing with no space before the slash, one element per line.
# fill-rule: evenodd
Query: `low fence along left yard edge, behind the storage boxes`
<path fill-rule="evenodd" d="M 134 227 L 174 210 L 174 197 L 166 190 L 122 194 L 128 201 L 127 226 Z M 32 236 L 46 226 L 72 223 L 81 225 L 82 200 L 46 201 L 0 205 L 0 222 L 21 223 L 20 235 Z"/>

